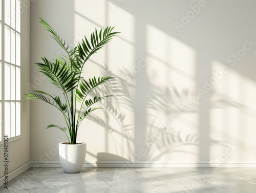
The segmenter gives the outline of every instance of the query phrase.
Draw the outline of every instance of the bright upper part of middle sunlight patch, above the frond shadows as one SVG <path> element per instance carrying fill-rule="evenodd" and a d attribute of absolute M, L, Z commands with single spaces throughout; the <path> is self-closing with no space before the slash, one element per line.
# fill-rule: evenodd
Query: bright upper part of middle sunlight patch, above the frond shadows
<path fill-rule="evenodd" d="M 152 25 L 146 26 L 146 51 L 151 61 L 149 77 L 153 84 L 167 82 L 179 89 L 196 88 L 196 51 Z"/>

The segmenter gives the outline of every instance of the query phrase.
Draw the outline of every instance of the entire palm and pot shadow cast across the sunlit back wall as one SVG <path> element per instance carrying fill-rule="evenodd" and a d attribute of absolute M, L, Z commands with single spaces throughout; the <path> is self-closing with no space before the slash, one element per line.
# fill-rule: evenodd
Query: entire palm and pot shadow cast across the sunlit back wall
<path fill-rule="evenodd" d="M 109 154 L 98 153 L 98 161 L 106 160 L 134 160 L 140 161 L 132 154 L 132 147 L 134 146 L 133 136 L 129 131 L 134 130 L 133 125 L 125 123 L 124 109 L 127 111 L 134 111 L 134 90 L 135 84 L 129 70 L 119 70 L 119 73 L 113 73 L 109 70 L 108 66 L 100 67 L 102 76 L 117 77 L 114 81 L 108 82 L 111 85 L 103 85 L 93 95 L 102 95 L 105 93 L 112 93 L 116 97 L 111 100 L 104 100 L 101 102 L 103 105 L 104 116 L 98 117 L 96 114 L 91 114 L 88 119 L 96 122 L 109 133 L 109 136 L 116 145 L 125 152 L 124 157 Z M 110 88 L 112 91 L 110 91 Z M 224 96 L 217 91 L 212 91 L 210 98 L 211 109 L 227 109 L 227 108 L 243 108 L 240 103 L 234 102 L 228 97 Z M 150 85 L 150 92 L 147 95 L 147 136 L 144 141 L 148 149 L 144 149 L 147 160 L 158 160 L 161 156 L 170 152 L 183 152 L 187 154 L 194 154 L 189 151 L 181 151 L 179 147 L 184 145 L 199 146 L 199 133 L 198 132 L 184 132 L 174 123 L 185 114 L 199 114 L 199 100 L 197 90 L 183 89 L 178 91 L 175 85 L 172 87 L 155 87 Z M 126 112 L 126 111 L 125 111 Z M 110 119 L 118 123 L 118 126 L 113 127 L 110 125 Z M 186 120 L 184 120 L 186 121 Z M 125 140 L 126 149 L 120 144 L 112 135 L 118 134 Z M 210 139 L 211 145 L 228 146 L 227 142 Z M 153 154 L 154 152 L 154 154 Z M 158 152 L 157 154 L 155 154 Z"/>

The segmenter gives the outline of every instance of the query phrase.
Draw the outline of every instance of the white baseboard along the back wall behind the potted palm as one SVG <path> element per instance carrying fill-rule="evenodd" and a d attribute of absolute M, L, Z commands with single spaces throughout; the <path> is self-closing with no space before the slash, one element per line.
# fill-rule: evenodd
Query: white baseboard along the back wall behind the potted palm
<path fill-rule="evenodd" d="M 30 164 L 31 167 L 61 167 L 59 161 L 31 161 Z M 86 161 L 83 167 L 256 167 L 256 161 Z"/>

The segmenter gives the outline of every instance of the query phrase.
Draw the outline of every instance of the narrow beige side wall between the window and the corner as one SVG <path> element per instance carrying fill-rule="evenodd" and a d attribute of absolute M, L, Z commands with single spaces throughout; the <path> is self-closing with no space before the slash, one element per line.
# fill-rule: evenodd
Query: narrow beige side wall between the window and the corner
<path fill-rule="evenodd" d="M 27 84 L 30 82 L 30 4 L 21 1 L 21 95 L 29 93 Z M 30 101 L 22 101 L 21 135 L 20 139 L 8 143 L 8 172 L 26 164 L 30 158 Z M 1 157 L 4 155 L 4 145 L 0 145 Z M 4 176 L 4 164 L 0 165 L 0 176 Z"/>

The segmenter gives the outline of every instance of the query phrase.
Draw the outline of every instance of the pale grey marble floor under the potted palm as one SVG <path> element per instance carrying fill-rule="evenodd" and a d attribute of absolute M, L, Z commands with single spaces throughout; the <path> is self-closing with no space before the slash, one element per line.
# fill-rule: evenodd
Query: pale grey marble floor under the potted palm
<path fill-rule="evenodd" d="M 13 193 L 255 193 L 256 168 L 30 168 L 9 182 Z"/>

